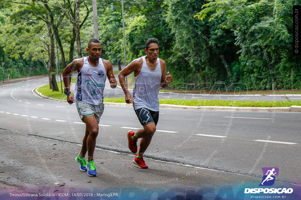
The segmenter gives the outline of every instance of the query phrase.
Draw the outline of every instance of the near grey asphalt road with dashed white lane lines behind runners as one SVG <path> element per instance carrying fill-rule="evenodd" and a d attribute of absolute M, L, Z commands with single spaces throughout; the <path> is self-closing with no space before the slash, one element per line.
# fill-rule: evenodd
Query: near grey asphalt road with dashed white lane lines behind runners
<path fill-rule="evenodd" d="M 81 143 L 85 125 L 79 119 L 75 105 L 45 100 L 33 94 L 33 88 L 47 84 L 47 82 L 47 79 L 38 79 L 2 86 L 0 88 L 0 128 L 73 144 Z M 105 92 L 111 92 L 111 90 L 105 90 Z M 262 178 L 262 167 L 278 167 L 280 169 L 278 181 L 301 184 L 300 119 L 298 116 L 299 113 L 294 112 L 231 112 L 160 108 L 157 131 L 145 157 L 230 172 L 230 175 L 249 175 L 256 180 Z M 129 129 L 135 131 L 140 127 L 132 107 L 105 106 L 99 125 L 97 147 L 131 154 L 127 148 L 126 132 Z M 229 127 L 228 131 L 227 127 Z M 2 131 L 2 134 L 4 133 Z M 9 134 L 17 133 L 9 132 Z M 18 138 L 17 135 L 11 135 L 11 137 Z M 267 138 L 273 142 L 266 142 Z M 67 143 L 60 145 L 64 146 L 64 144 Z M 21 145 L 23 149 L 33 147 L 30 141 L 24 145 Z M 23 151 L 25 150 L 20 150 L 20 152 Z M 70 152 L 72 152 L 70 157 L 77 154 L 73 150 Z M 101 162 L 101 155 L 98 159 Z M 131 159 L 132 157 L 128 159 L 128 163 L 126 161 L 124 163 L 134 166 Z M 146 163 L 151 169 L 152 162 L 147 160 Z M 69 164 L 74 163 L 71 161 Z M 168 167 L 173 169 L 171 165 L 166 166 L 166 169 Z M 188 172 L 192 174 L 195 171 L 194 169 L 184 170 L 181 175 L 184 172 L 188 175 Z M 9 184 L 9 181 L 5 183 Z M 187 184 L 187 187 L 194 186 L 193 181 Z"/>

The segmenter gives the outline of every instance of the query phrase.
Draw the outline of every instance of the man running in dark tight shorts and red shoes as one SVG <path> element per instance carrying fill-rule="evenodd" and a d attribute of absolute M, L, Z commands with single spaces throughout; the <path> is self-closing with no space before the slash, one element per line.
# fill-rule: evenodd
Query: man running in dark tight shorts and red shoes
<path fill-rule="evenodd" d="M 166 88 L 172 82 L 172 76 L 165 76 L 165 61 L 158 58 L 159 44 L 154 38 L 145 43 L 146 56 L 133 60 L 119 73 L 119 82 L 126 95 L 126 103 L 133 103 L 134 110 L 143 128 L 136 133 L 129 130 L 127 133 L 129 149 L 137 152 L 137 140 L 141 138 L 140 148 L 133 162 L 139 167 L 146 169 L 148 166 L 143 160 L 143 154 L 156 131 L 159 120 L 159 88 Z M 126 87 L 125 77 L 134 72 L 135 87 L 133 96 Z"/>

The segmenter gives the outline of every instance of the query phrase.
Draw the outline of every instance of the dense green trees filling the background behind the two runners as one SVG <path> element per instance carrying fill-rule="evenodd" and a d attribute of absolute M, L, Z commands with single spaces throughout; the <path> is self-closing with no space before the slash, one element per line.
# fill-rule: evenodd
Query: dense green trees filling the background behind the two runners
<path fill-rule="evenodd" d="M 0 3 L 0 61 L 5 63 L 0 75 L 27 76 L 32 61 L 31 76 L 53 73 L 55 55 L 60 71 L 77 56 L 87 55 L 86 43 L 94 35 L 92 1 L 58 2 Z M 292 52 L 292 7 L 298 3 L 125 0 L 127 63 L 145 55 L 144 43 L 154 37 L 174 83 L 208 83 L 210 88 L 215 82 L 227 87 L 240 82 L 249 90 L 272 89 L 272 84 L 277 89 L 301 89 L 300 58 Z M 121 2 L 97 4 L 102 57 L 120 67 L 124 63 Z"/>

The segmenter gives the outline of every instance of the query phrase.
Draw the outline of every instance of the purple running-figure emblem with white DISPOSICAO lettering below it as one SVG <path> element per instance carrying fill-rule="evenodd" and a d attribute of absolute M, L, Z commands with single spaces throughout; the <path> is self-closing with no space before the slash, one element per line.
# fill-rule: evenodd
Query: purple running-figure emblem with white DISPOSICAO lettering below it
<path fill-rule="evenodd" d="M 277 167 L 263 167 L 263 178 L 259 186 L 272 186 L 275 183 L 275 176 L 278 176 L 279 169 Z M 290 194 L 293 192 L 292 188 L 245 188 L 244 193 L 278 193 Z"/>

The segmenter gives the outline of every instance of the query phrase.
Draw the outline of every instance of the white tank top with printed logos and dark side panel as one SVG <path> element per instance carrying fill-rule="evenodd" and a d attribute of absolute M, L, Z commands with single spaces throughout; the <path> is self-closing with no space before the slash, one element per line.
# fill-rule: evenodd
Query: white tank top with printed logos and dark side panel
<path fill-rule="evenodd" d="M 93 67 L 88 62 L 88 57 L 84 57 L 84 64 L 79 71 L 75 91 L 75 101 L 85 101 L 93 105 L 103 102 L 104 85 L 106 83 L 107 72 L 99 58 L 98 66 Z"/>

